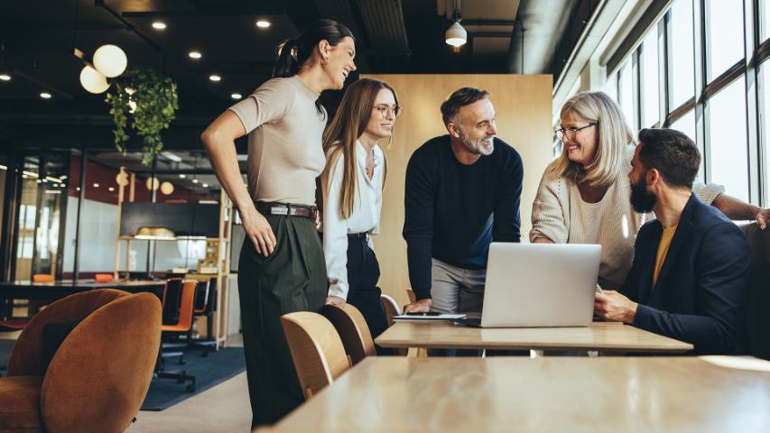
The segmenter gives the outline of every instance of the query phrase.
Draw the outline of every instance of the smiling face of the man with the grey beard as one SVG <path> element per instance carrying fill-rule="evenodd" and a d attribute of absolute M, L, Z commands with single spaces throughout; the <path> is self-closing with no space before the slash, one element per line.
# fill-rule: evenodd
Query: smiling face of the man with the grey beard
<path fill-rule="evenodd" d="M 487 99 L 480 99 L 468 106 L 462 106 L 458 115 L 450 123 L 457 126 L 458 138 L 466 151 L 477 155 L 490 155 L 495 150 L 495 107 Z"/>

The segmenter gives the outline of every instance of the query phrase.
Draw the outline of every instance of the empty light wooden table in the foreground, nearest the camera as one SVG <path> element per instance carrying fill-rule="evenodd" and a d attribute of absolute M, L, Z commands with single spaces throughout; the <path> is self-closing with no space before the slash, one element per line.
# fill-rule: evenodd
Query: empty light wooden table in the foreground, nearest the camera
<path fill-rule="evenodd" d="M 770 371 L 770 363 L 765 364 Z M 697 357 L 369 357 L 268 431 L 768 431 L 770 373 Z"/>

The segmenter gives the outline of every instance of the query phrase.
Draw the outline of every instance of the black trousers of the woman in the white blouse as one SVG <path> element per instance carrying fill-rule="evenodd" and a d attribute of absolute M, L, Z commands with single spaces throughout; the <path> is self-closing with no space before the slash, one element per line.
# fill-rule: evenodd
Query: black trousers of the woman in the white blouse
<path fill-rule="evenodd" d="M 382 291 L 377 287 L 379 279 L 380 264 L 377 263 L 375 252 L 366 243 L 366 238 L 348 236 L 348 303 L 361 311 L 373 338 L 387 328 L 385 310 L 380 303 Z M 379 355 L 389 353 L 377 348 Z"/>

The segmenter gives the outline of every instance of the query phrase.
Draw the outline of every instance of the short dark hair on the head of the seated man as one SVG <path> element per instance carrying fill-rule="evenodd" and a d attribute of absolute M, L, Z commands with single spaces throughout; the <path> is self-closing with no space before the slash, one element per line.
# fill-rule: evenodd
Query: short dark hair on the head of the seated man
<path fill-rule="evenodd" d="M 657 169 L 672 187 L 692 188 L 698 175 L 700 151 L 690 137 L 673 129 L 639 131 L 639 161 L 645 170 Z"/>

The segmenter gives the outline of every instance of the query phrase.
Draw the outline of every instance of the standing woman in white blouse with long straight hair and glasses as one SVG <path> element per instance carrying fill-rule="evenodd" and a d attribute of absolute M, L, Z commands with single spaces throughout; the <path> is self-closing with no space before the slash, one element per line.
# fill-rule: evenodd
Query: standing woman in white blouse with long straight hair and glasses
<path fill-rule="evenodd" d="M 377 79 L 351 84 L 323 136 L 323 252 L 329 275 L 327 304 L 361 311 L 372 336 L 385 331 L 377 280 L 380 267 L 371 235 L 379 232 L 385 154 L 401 107 L 394 89 Z M 379 349 L 381 350 L 381 349 Z"/>

